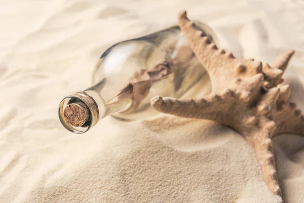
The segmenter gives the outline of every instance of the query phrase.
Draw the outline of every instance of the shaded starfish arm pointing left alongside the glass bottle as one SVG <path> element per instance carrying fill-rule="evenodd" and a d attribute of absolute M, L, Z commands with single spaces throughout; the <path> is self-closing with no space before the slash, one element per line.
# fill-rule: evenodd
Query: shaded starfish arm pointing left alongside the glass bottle
<path fill-rule="evenodd" d="M 233 92 L 230 92 L 234 94 Z M 157 111 L 185 118 L 200 118 L 222 123 L 221 111 L 227 108 L 223 97 L 211 94 L 200 99 L 175 99 L 156 96 L 150 103 Z"/>

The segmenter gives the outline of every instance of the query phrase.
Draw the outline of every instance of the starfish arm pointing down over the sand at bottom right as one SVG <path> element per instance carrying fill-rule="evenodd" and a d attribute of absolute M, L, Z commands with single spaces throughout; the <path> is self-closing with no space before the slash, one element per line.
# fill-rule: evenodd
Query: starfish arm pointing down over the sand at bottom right
<path fill-rule="evenodd" d="M 256 159 L 260 165 L 263 179 L 269 189 L 276 195 L 281 196 L 281 189 L 278 182 L 273 143 L 269 138 L 268 130 L 261 130 L 251 134 L 249 143 L 254 149 Z"/>

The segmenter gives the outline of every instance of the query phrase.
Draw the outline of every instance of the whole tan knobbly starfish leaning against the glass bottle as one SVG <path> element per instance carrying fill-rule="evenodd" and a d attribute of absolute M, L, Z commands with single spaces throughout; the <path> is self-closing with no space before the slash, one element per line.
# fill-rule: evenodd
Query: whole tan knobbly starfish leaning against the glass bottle
<path fill-rule="evenodd" d="M 211 43 L 185 11 L 179 13 L 178 21 L 210 76 L 212 91 L 203 98 L 156 96 L 150 100 L 151 105 L 162 113 L 208 119 L 235 129 L 252 146 L 264 182 L 274 194 L 282 196 L 272 138 L 282 133 L 304 135 L 304 117 L 294 103 L 289 103 L 289 85 L 282 83 L 294 51 L 283 53 L 272 65 L 238 59 Z"/>

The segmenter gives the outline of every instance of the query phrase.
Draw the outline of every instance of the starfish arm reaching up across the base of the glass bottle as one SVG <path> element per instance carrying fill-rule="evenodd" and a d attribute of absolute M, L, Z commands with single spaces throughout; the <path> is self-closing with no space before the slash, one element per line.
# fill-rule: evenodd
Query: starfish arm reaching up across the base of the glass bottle
<path fill-rule="evenodd" d="M 231 52 L 218 49 L 205 33 L 187 18 L 185 11 L 179 13 L 178 25 L 189 47 L 210 76 L 212 92 L 221 93 L 226 88 L 233 88 L 235 77 L 248 78 L 262 72 L 260 61 L 238 59 Z"/>

